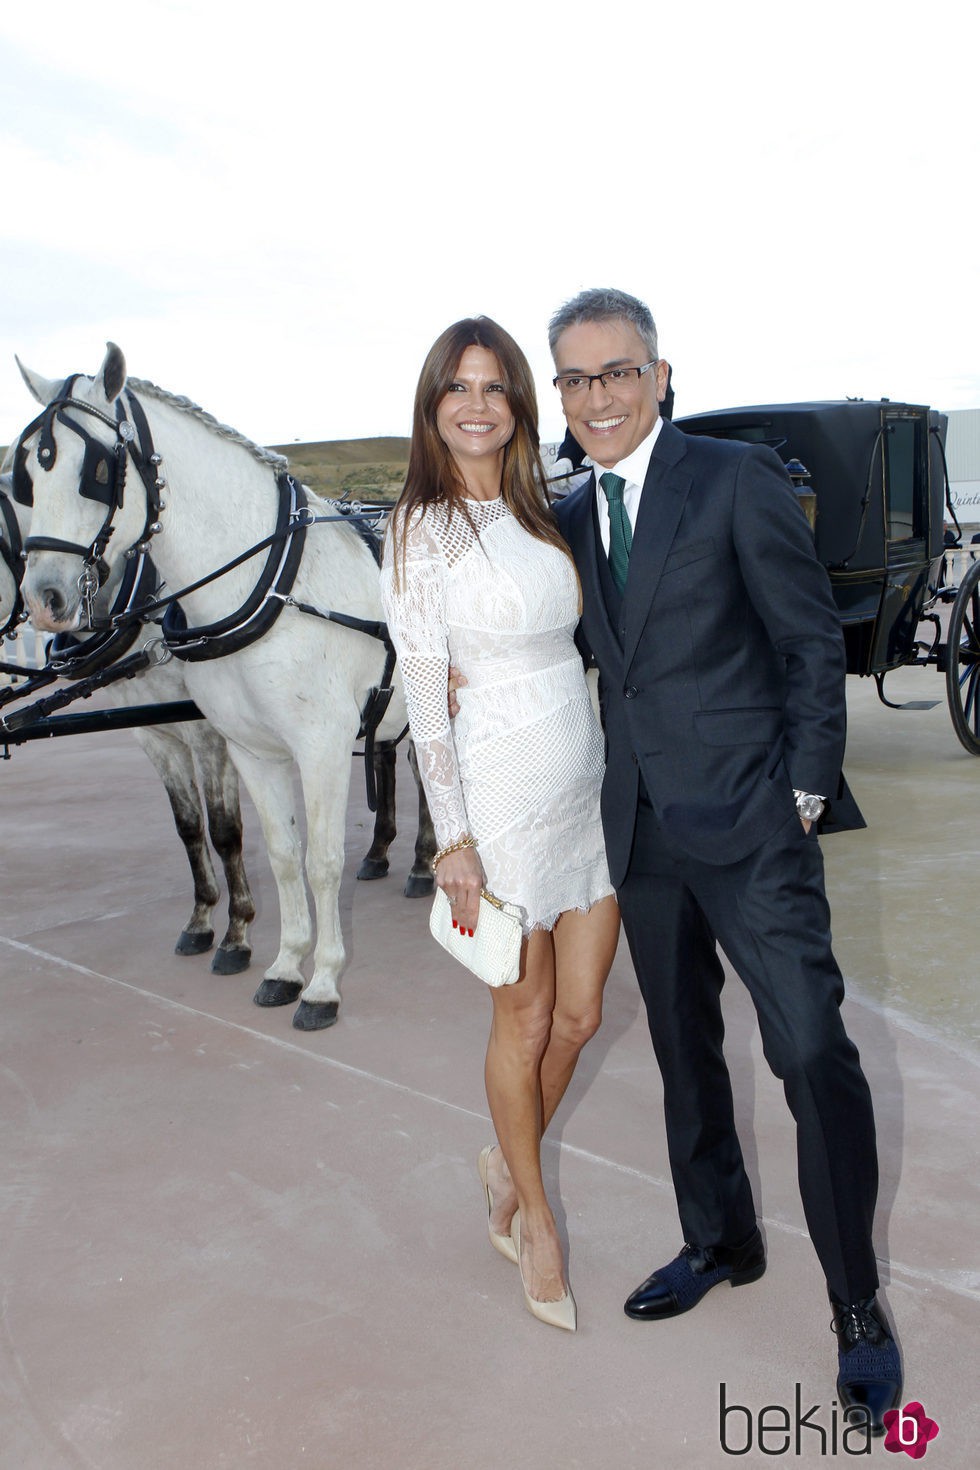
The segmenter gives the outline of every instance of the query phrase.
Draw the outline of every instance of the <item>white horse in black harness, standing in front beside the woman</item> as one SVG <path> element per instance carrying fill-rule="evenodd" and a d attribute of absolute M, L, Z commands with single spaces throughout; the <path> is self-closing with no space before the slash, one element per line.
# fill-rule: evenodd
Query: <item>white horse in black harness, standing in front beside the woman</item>
<path fill-rule="evenodd" d="M 314 526 L 306 532 L 287 600 L 284 567 L 301 535 L 295 528 L 309 516 L 297 510 L 285 526 L 281 456 L 217 425 L 187 398 L 138 379 L 126 384 L 115 344 L 94 378 L 48 382 L 22 372 L 47 407 L 19 442 L 34 497 L 24 578 L 31 619 L 44 631 L 84 626 L 98 582 L 153 538 L 153 560 L 167 588 L 179 591 L 192 629 L 182 644 L 179 634 L 173 638 L 191 656 L 184 666 L 188 692 L 228 741 L 259 811 L 279 894 L 279 953 L 256 1003 L 285 1005 L 300 997 L 294 1026 L 329 1026 L 345 961 L 338 889 L 350 751 L 372 691 L 382 684 L 386 653 L 361 628 L 301 612 L 298 604 L 381 623 L 375 559 L 350 523 Z M 329 504 L 313 498 L 310 509 L 331 513 Z M 248 554 L 259 544 L 263 550 Z M 267 579 L 263 564 L 270 569 Z M 219 569 L 225 570 L 215 576 Z M 282 614 L 264 626 L 273 606 Z M 234 651 L 195 662 L 201 648 L 207 654 L 212 644 L 228 647 L 231 625 Z M 247 641 L 256 625 L 262 635 Z M 395 675 L 378 738 L 397 738 L 406 722 Z M 316 947 L 294 810 L 295 767 L 306 806 Z M 304 986 L 301 966 L 313 948 L 313 975 Z"/>

